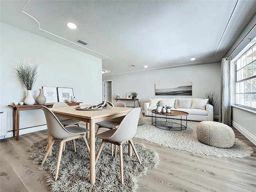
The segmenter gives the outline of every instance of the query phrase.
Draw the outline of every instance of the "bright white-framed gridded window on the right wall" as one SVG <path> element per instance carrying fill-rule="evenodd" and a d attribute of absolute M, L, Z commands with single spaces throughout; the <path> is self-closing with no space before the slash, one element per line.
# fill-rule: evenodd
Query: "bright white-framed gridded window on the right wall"
<path fill-rule="evenodd" d="M 236 60 L 236 105 L 256 109 L 256 44 Z"/>

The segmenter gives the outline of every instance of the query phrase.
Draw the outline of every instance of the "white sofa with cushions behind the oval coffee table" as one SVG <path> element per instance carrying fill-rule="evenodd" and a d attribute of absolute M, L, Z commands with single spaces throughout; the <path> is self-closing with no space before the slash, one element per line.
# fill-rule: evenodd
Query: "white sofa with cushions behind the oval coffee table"
<path fill-rule="evenodd" d="M 161 101 L 162 106 L 171 106 L 171 110 L 188 112 L 188 120 L 192 121 L 213 121 L 213 106 L 207 104 L 208 99 L 201 98 L 157 98 L 150 99 L 144 104 L 145 116 L 152 116 L 152 110 L 156 109 L 156 103 Z M 155 116 L 155 114 L 153 114 Z M 158 117 L 162 115 L 156 114 Z M 166 116 L 164 116 L 166 117 Z M 180 119 L 180 116 L 167 116 L 167 118 Z M 186 116 L 182 116 L 186 120 Z"/>

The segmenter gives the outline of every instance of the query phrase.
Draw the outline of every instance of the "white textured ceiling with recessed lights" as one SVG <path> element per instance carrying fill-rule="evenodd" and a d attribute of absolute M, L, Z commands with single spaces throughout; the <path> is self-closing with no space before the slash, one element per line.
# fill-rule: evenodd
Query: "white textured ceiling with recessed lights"
<path fill-rule="evenodd" d="M 256 13 L 256 1 L 247 0 L 1 0 L 0 6 L 1 22 L 101 58 L 109 74 L 219 62 Z"/>

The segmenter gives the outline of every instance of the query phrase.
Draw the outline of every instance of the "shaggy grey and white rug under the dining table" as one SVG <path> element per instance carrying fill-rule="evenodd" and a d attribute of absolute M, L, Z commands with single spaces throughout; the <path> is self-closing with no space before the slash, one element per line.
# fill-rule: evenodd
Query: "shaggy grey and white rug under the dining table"
<path fill-rule="evenodd" d="M 101 139 L 96 139 L 96 152 Z M 29 159 L 34 164 L 41 164 L 46 153 L 47 139 L 43 139 L 28 148 Z M 52 156 L 46 159 L 39 170 L 48 170 L 46 174 L 47 185 L 51 192 L 132 192 L 137 188 L 136 178 L 146 174 L 146 170 L 156 168 L 158 154 L 143 144 L 134 143 L 142 164 L 139 164 L 134 152 L 128 156 L 128 145 L 123 144 L 124 185 L 120 182 L 120 160 L 111 156 L 111 145 L 105 144 L 98 162 L 96 163 L 96 183 L 90 184 L 89 154 L 81 138 L 76 139 L 76 153 L 72 141 L 66 142 L 62 153 L 58 180 L 54 182 L 56 163 L 60 142 L 57 140 L 52 149 Z"/>

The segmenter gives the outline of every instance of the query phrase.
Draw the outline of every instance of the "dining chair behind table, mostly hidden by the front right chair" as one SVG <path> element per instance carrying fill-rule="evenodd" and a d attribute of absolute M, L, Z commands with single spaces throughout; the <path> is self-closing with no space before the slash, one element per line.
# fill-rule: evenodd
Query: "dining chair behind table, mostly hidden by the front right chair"
<path fill-rule="evenodd" d="M 114 107 L 126 107 L 124 102 L 116 102 L 113 105 L 114 105 Z M 119 126 L 119 124 L 123 120 L 123 118 L 124 117 L 118 117 L 118 118 L 114 118 L 114 119 L 110 119 L 110 120 L 97 122 L 96 125 L 98 125 L 98 130 L 97 130 L 96 134 L 98 134 L 100 131 L 100 128 L 103 128 L 103 127 L 108 128 L 108 129 L 117 128 L 117 126 Z M 114 145 L 111 144 L 112 156 L 113 156 L 113 150 L 114 150 Z M 115 157 L 116 157 L 116 146 L 115 146 Z"/>

